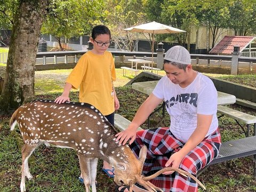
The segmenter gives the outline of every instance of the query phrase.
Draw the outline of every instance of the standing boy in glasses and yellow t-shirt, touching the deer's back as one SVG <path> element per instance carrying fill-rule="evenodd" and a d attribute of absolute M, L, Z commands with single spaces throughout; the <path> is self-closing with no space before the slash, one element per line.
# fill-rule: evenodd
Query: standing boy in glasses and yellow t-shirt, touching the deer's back
<path fill-rule="evenodd" d="M 90 41 L 93 49 L 79 59 L 66 80 L 63 93 L 54 102 L 70 101 L 69 91 L 79 87 L 79 102 L 90 103 L 114 125 L 114 112 L 119 109 L 119 101 L 113 85 L 116 80 L 115 64 L 112 54 L 107 51 L 110 38 L 110 30 L 106 26 L 92 29 Z M 114 170 L 105 161 L 102 170 L 109 177 L 114 177 Z"/>

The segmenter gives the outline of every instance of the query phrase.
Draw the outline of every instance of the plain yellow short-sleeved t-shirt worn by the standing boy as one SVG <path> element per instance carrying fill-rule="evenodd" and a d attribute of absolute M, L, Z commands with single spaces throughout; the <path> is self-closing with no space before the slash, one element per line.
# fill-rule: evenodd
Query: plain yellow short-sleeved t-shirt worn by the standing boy
<path fill-rule="evenodd" d="M 71 71 L 66 82 L 74 89 L 79 87 L 79 102 L 90 103 L 103 115 L 115 111 L 113 82 L 116 80 L 115 64 L 110 52 L 97 55 L 86 52 Z"/>

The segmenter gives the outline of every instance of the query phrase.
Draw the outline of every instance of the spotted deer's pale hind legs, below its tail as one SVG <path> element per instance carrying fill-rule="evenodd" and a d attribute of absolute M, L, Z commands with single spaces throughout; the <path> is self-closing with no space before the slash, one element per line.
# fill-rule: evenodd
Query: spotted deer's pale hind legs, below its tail
<path fill-rule="evenodd" d="M 23 145 L 21 154 L 22 154 L 22 172 L 21 172 L 21 182 L 20 182 L 20 190 L 21 192 L 26 191 L 25 187 L 25 176 L 30 180 L 32 179 L 32 175 L 29 171 L 28 159 L 33 151 L 36 149 L 37 145 Z"/>

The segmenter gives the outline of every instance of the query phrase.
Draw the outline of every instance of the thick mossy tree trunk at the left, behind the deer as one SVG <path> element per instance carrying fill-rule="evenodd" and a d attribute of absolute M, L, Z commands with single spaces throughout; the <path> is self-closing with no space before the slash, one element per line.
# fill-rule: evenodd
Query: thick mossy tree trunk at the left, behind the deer
<path fill-rule="evenodd" d="M 15 13 L 0 110 L 16 109 L 35 98 L 37 45 L 45 13 L 44 0 L 20 0 Z"/>

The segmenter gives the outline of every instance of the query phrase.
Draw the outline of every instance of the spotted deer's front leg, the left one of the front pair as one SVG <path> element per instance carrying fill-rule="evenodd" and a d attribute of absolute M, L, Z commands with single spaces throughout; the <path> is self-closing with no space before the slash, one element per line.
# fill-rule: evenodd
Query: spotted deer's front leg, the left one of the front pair
<path fill-rule="evenodd" d="M 86 192 L 90 192 L 90 186 L 91 186 L 90 158 L 86 158 L 83 155 L 78 155 L 78 157 L 79 157 L 81 173 L 83 176 L 82 178 L 84 180 L 85 190 Z"/>

